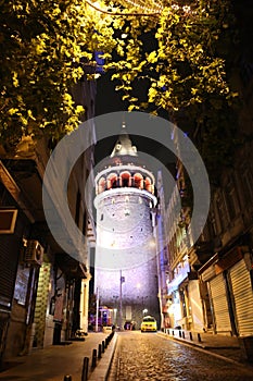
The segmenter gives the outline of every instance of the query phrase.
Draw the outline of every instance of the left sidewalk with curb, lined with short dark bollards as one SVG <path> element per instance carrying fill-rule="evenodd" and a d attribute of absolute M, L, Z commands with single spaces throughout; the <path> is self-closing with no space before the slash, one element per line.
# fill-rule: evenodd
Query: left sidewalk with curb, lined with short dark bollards
<path fill-rule="evenodd" d="M 93 379 L 94 372 L 96 381 L 105 380 L 116 345 L 116 334 L 102 354 L 102 358 L 97 360 L 97 367 L 92 372 L 90 367 L 93 349 L 98 351 L 99 344 L 107 336 L 107 333 L 91 332 L 84 342 L 73 341 L 68 345 L 51 345 L 35 349 L 30 355 L 14 358 L 13 366 L 0 372 L 0 380 L 63 381 L 65 376 L 71 376 L 69 380 L 81 381 L 85 357 L 89 357 L 89 380 Z"/>

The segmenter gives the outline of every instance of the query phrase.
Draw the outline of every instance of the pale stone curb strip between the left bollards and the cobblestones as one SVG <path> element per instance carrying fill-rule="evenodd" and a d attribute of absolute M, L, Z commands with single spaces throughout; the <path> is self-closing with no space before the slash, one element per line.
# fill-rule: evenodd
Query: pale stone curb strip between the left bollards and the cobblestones
<path fill-rule="evenodd" d="M 92 372 L 89 374 L 88 380 L 89 381 L 104 381 L 107 378 L 111 362 L 113 359 L 113 355 L 116 348 L 117 343 L 117 334 L 115 333 L 110 345 L 107 346 L 105 353 L 103 354 L 102 358 L 99 360 L 97 367 Z"/>

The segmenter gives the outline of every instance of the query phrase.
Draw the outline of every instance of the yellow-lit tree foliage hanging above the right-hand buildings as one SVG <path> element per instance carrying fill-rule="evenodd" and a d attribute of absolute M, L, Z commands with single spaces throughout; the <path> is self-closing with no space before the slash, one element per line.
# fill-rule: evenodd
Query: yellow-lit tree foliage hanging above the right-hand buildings
<path fill-rule="evenodd" d="M 229 162 L 240 105 L 232 79 L 238 30 L 231 1 L 166 1 L 140 25 L 129 20 L 121 25 L 127 38 L 117 48 L 121 59 L 111 64 L 129 109 L 166 110 L 185 131 L 199 132 L 210 168 Z M 148 51 L 147 30 L 156 42 Z M 136 90 L 140 84 L 148 88 L 146 99 Z"/>

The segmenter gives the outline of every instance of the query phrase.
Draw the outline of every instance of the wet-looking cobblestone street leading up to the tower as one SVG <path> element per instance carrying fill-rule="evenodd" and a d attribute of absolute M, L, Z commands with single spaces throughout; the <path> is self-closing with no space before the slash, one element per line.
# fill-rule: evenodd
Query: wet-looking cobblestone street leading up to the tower
<path fill-rule="evenodd" d="M 250 381 L 253 367 L 157 334 L 122 332 L 109 381 Z"/>

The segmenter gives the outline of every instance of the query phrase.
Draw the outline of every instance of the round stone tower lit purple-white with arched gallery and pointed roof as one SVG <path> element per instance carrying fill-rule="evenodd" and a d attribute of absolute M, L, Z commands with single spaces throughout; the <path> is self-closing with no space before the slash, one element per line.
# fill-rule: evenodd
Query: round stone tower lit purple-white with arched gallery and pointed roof
<path fill-rule="evenodd" d="M 159 320 L 154 176 L 140 162 L 125 125 L 96 176 L 97 247 L 94 291 L 113 309 L 113 323 L 143 315 Z"/>

